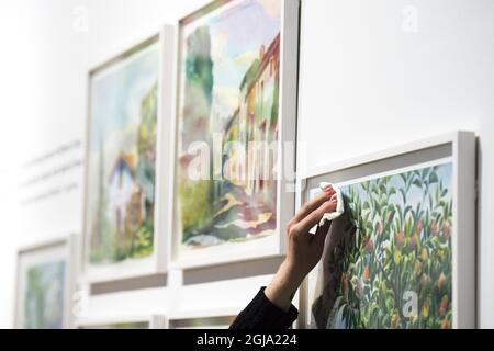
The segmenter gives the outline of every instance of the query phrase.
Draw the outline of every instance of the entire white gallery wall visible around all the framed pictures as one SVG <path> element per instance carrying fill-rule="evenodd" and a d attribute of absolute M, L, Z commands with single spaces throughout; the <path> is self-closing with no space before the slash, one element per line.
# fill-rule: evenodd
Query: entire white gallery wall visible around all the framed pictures
<path fill-rule="evenodd" d="M 80 184 L 44 202 L 23 203 L 20 179 L 31 171 L 26 162 L 59 145 L 83 141 L 91 67 L 206 2 L 1 2 L 0 327 L 12 326 L 16 248 L 80 231 L 82 225 Z M 494 223 L 489 218 L 494 213 L 489 182 L 494 179 L 494 1 L 302 0 L 301 42 L 299 141 L 307 150 L 300 155 L 301 167 L 452 129 L 478 132 L 479 322 L 494 327 Z M 70 159 L 83 157 L 82 147 L 71 152 Z M 82 168 L 60 177 L 54 181 L 80 183 Z M 187 286 L 181 272 L 172 271 L 167 287 L 93 296 L 87 314 L 239 308 L 271 278 L 250 276 L 256 267 L 232 269 L 198 271 L 186 278 Z M 207 275 L 220 281 L 201 279 Z"/>

